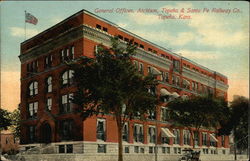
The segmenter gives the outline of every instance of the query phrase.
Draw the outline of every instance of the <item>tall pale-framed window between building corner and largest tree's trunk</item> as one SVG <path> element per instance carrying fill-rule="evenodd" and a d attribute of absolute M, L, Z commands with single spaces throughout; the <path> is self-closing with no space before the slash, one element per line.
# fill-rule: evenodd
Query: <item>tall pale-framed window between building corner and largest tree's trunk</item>
<path fill-rule="evenodd" d="M 106 120 L 105 119 L 97 119 L 96 125 L 96 138 L 98 140 L 106 140 Z"/>

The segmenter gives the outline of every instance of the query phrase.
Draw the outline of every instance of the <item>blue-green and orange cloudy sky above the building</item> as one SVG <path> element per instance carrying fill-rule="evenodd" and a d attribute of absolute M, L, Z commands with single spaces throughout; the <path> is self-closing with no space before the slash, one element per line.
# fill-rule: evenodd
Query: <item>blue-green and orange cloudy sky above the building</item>
<path fill-rule="evenodd" d="M 20 103 L 25 10 L 38 19 L 26 38 L 85 9 L 228 77 L 228 99 L 249 98 L 249 3 L 245 1 L 1 1 L 1 108 Z M 148 9 L 148 12 L 138 12 Z M 112 12 L 104 12 L 104 11 Z M 133 12 L 124 12 L 124 11 Z M 149 11 L 156 12 L 149 12 Z M 145 10 L 144 10 L 145 11 Z M 175 17 L 172 19 L 171 17 Z M 185 18 L 185 19 L 184 19 Z"/>

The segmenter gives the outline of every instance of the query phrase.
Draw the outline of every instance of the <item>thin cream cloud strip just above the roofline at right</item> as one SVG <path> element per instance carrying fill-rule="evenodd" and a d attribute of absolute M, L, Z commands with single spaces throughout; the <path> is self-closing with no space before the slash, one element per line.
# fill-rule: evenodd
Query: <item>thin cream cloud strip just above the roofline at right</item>
<path fill-rule="evenodd" d="M 216 51 L 179 50 L 176 53 L 180 53 L 182 56 L 187 57 L 189 59 L 214 60 L 219 58 L 219 53 Z"/>

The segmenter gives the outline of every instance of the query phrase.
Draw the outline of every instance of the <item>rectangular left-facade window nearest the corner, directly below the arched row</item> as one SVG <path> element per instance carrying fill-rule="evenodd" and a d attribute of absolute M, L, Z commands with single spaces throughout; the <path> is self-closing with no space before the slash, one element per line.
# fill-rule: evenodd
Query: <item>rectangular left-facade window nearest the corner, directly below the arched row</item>
<path fill-rule="evenodd" d="M 68 113 L 72 111 L 73 103 L 71 99 L 73 98 L 73 93 L 62 95 L 61 102 L 61 113 Z"/>

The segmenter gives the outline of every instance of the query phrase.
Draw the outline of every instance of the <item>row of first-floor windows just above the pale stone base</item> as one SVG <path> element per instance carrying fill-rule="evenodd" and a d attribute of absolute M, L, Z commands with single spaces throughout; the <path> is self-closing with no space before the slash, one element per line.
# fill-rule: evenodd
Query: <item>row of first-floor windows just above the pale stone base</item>
<path fill-rule="evenodd" d="M 61 140 L 72 140 L 73 139 L 73 120 L 63 120 L 59 123 L 59 134 Z M 144 129 L 142 124 L 134 124 L 133 126 L 133 141 L 135 143 L 144 143 Z M 168 130 L 169 131 L 169 130 Z M 169 131 L 170 132 L 170 131 Z M 171 133 L 171 132 L 170 132 Z M 106 141 L 106 120 L 105 119 L 97 119 L 96 125 L 96 138 L 99 141 Z M 181 132 L 179 129 L 173 129 L 173 144 L 181 144 Z M 203 132 L 201 135 L 202 142 L 200 144 L 199 133 L 197 131 L 194 132 L 194 143 L 196 146 L 217 146 L 217 139 L 215 138 L 215 134 L 208 134 Z M 29 126 L 29 141 L 31 143 L 36 141 L 36 133 L 35 126 Z M 122 132 L 123 141 L 129 141 L 129 126 L 128 123 L 125 123 Z M 210 139 L 209 139 L 210 138 Z M 189 130 L 183 130 L 182 142 L 184 145 L 191 145 L 191 133 Z M 149 144 L 156 143 L 156 128 L 155 126 L 149 126 L 147 131 L 147 141 Z M 162 144 L 170 144 L 170 136 L 161 131 L 161 143 Z M 221 145 L 225 145 L 224 136 L 221 137 Z"/>

